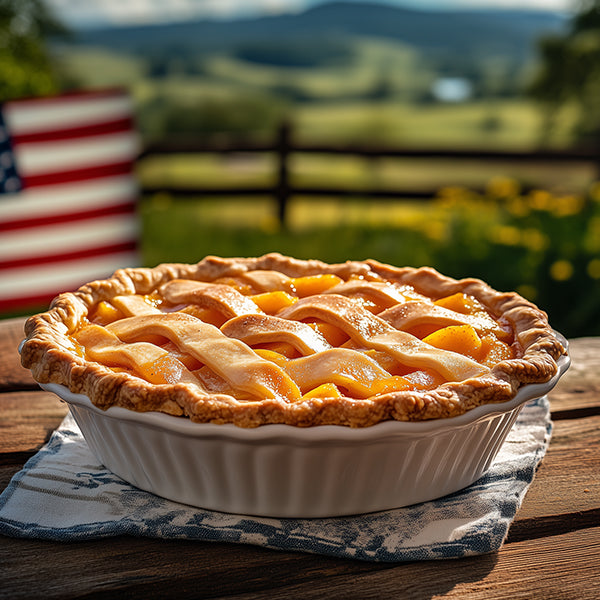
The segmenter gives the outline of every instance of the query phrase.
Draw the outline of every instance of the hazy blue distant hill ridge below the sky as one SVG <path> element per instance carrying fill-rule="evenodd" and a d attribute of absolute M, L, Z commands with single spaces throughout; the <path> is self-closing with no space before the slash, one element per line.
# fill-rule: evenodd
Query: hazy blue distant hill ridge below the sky
<path fill-rule="evenodd" d="M 565 18 L 550 11 L 420 11 L 385 4 L 331 2 L 300 14 L 238 20 L 199 20 L 77 32 L 77 42 L 131 53 L 160 49 L 223 51 L 264 42 L 368 36 L 397 40 L 427 54 L 531 56 L 535 39 L 558 31 Z"/>

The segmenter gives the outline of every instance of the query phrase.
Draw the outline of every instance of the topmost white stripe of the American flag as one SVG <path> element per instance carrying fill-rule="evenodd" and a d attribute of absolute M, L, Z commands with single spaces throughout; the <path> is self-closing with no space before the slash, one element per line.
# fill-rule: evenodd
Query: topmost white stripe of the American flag
<path fill-rule="evenodd" d="M 131 117 L 126 95 L 115 97 L 73 96 L 60 102 L 7 102 L 4 118 L 13 135 L 46 133 Z"/>

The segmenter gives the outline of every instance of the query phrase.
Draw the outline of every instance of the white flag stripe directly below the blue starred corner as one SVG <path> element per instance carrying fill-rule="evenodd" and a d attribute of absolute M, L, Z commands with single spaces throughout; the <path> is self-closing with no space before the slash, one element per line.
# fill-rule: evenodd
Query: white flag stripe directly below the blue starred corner
<path fill-rule="evenodd" d="M 137 200 L 138 186 L 130 175 L 39 186 L 0 200 L 0 223 L 108 208 Z"/>

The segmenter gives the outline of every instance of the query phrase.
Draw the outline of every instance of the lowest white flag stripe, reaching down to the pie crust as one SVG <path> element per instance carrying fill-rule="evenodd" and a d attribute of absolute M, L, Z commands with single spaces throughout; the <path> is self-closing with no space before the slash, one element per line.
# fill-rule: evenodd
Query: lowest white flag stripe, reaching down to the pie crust
<path fill-rule="evenodd" d="M 117 267 L 134 267 L 137 257 L 133 252 L 123 252 L 86 258 L 68 263 L 54 263 L 20 269 L 0 271 L 0 300 L 44 294 L 48 290 L 68 292 L 95 279 L 110 277 Z"/>

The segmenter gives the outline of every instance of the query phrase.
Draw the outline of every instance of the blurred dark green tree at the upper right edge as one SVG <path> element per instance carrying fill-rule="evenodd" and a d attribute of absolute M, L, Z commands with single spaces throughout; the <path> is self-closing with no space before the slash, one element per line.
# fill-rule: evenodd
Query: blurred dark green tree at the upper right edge
<path fill-rule="evenodd" d="M 560 109 L 574 105 L 576 139 L 600 143 L 600 0 L 580 0 L 565 34 L 540 40 L 539 54 L 530 93 L 545 106 L 546 131 Z"/>

